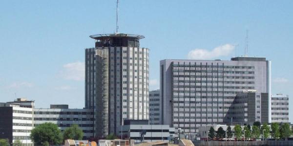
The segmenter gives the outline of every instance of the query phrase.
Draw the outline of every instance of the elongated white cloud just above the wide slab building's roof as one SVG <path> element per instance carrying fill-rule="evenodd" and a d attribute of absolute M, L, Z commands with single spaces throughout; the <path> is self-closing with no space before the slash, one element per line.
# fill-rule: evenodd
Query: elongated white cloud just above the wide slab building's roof
<path fill-rule="evenodd" d="M 212 59 L 220 56 L 228 56 L 232 53 L 235 46 L 231 44 L 225 44 L 218 46 L 213 50 L 209 51 L 207 49 L 194 49 L 188 53 L 188 59 Z"/>

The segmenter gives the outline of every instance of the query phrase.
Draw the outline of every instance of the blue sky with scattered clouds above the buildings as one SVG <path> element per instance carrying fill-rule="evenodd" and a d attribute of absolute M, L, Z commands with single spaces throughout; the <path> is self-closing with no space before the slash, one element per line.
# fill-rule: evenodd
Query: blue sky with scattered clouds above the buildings
<path fill-rule="evenodd" d="M 292 5 L 292 0 L 120 0 L 119 32 L 146 37 L 141 47 L 150 49 L 150 89 L 158 89 L 159 60 L 244 55 L 248 29 L 248 54 L 272 60 L 272 93 L 288 94 L 292 105 Z M 83 108 L 84 49 L 94 46 L 88 36 L 113 33 L 115 15 L 115 0 L 1 0 L 0 102 L 27 97 L 37 108 Z"/>

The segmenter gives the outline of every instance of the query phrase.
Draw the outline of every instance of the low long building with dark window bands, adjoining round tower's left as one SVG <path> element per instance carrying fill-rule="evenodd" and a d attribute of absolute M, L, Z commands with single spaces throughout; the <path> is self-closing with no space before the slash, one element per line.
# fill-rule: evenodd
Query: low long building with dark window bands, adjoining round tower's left
<path fill-rule="evenodd" d="M 73 124 L 78 125 L 84 132 L 83 140 L 94 137 L 93 110 L 68 109 L 68 105 L 51 105 L 51 109 L 35 109 L 34 126 L 43 123 L 53 123 L 63 131 Z"/>

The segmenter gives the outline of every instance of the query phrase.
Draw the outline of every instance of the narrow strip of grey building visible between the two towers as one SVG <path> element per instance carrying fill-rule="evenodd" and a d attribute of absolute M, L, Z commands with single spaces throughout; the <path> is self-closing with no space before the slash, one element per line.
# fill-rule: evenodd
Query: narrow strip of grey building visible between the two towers
<path fill-rule="evenodd" d="M 149 124 L 161 125 L 162 118 L 160 90 L 149 91 Z"/>

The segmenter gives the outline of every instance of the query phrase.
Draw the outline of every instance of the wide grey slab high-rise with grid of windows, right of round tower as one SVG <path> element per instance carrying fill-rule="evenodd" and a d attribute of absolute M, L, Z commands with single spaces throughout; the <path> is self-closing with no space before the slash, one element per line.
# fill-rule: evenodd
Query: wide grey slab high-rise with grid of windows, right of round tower
<path fill-rule="evenodd" d="M 231 60 L 160 61 L 163 124 L 198 132 L 198 127 L 229 123 L 237 93 L 256 90 L 271 95 L 271 61 L 264 57 Z M 271 99 L 268 99 L 271 103 Z M 271 104 L 267 105 L 268 121 Z"/>

